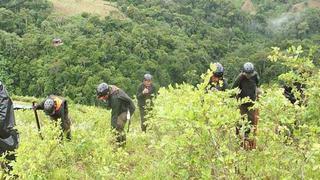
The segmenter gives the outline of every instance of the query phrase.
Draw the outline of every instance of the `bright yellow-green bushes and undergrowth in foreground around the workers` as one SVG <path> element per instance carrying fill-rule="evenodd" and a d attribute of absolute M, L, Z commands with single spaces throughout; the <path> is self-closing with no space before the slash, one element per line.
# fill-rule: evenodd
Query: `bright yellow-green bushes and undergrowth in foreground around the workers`
<path fill-rule="evenodd" d="M 283 81 L 306 85 L 307 100 L 291 104 L 282 88 L 263 87 L 256 103 L 255 150 L 242 149 L 235 135 L 235 124 L 241 122 L 241 102 L 230 98 L 235 90 L 206 94 L 205 83 L 196 88 L 181 84 L 160 90 L 147 133 L 140 131 L 136 112 L 124 149 L 113 145 L 110 114 L 103 109 L 71 105 L 71 142 L 60 142 L 57 128 L 43 114 L 41 140 L 33 113 L 17 112 L 21 144 L 13 173 L 21 179 L 316 179 L 320 76 L 301 52 L 300 47 L 287 52 L 274 48 L 269 57 L 291 69 L 280 76 Z"/>

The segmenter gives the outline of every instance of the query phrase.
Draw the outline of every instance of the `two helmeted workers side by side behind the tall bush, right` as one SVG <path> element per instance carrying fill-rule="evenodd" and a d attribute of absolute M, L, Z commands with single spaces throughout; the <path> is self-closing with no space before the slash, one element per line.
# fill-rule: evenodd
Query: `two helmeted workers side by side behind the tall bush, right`
<path fill-rule="evenodd" d="M 208 91 L 225 91 L 228 88 L 227 81 L 224 79 L 224 67 L 220 63 L 215 63 L 215 70 L 210 78 L 207 86 Z M 232 89 L 239 88 L 240 93 L 237 94 L 237 99 L 249 98 L 251 101 L 240 105 L 240 113 L 247 123 L 238 123 L 236 127 L 236 134 L 242 139 L 241 146 L 246 150 L 254 149 L 256 141 L 249 137 L 249 133 L 253 131 L 256 133 L 258 123 L 258 110 L 253 108 L 254 102 L 257 100 L 259 89 L 259 75 L 255 71 L 254 65 L 247 62 L 243 65 L 242 71 L 234 80 Z M 244 121 L 245 122 L 245 121 Z M 241 133 L 242 132 L 242 133 Z"/>

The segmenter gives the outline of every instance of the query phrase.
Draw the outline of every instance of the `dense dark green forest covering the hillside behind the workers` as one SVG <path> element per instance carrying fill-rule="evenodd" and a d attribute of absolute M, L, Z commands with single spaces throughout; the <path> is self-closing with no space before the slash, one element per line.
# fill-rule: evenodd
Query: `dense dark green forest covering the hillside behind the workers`
<path fill-rule="evenodd" d="M 306 54 L 313 51 L 314 61 L 319 56 L 319 10 L 273 22 L 263 12 L 249 15 L 229 1 L 117 4 L 126 19 L 88 13 L 60 17 L 47 1 L 1 1 L 0 59 L 5 66 L 0 74 L 10 92 L 54 93 L 94 104 L 93 89 L 101 81 L 130 95 L 145 72 L 160 86 L 195 85 L 210 62 L 220 61 L 231 82 L 250 60 L 267 83 L 283 71 L 266 61 L 270 47 L 301 44 Z M 53 47 L 53 38 L 64 44 Z"/>

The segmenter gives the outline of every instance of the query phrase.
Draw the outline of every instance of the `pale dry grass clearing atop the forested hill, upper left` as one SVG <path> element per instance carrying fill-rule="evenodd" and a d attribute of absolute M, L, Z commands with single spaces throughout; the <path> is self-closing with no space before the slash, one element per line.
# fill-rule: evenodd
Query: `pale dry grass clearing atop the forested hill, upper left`
<path fill-rule="evenodd" d="M 102 17 L 116 16 L 125 18 L 124 15 L 111 3 L 103 0 L 50 0 L 55 12 L 63 16 L 79 15 L 83 12 L 97 14 Z"/>

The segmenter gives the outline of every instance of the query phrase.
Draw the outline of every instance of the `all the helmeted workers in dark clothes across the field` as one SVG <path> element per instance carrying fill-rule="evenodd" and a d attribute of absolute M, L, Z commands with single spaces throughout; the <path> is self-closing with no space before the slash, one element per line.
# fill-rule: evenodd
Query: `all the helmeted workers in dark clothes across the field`
<path fill-rule="evenodd" d="M 220 63 L 214 63 L 215 70 L 208 82 L 206 92 L 225 91 L 228 88 L 227 81 L 224 78 L 224 67 Z M 238 99 L 248 97 L 251 101 L 240 105 L 240 113 L 243 118 L 247 118 L 249 128 L 243 131 L 243 125 L 236 127 L 236 133 L 240 136 L 243 133 L 244 144 L 246 149 L 255 148 L 255 141 L 249 139 L 250 131 L 255 132 L 257 126 L 257 110 L 253 109 L 254 102 L 259 94 L 259 75 L 255 71 L 254 65 L 247 62 L 243 65 L 241 73 L 235 79 L 232 88 L 239 88 Z M 142 83 L 137 88 L 136 97 L 140 110 L 141 130 L 146 132 L 146 117 L 152 109 L 153 98 L 157 90 L 152 82 L 152 75 L 145 74 Z M 132 99 L 120 88 L 115 85 L 101 83 L 96 88 L 97 98 L 104 101 L 107 109 L 111 109 L 111 128 L 115 133 L 115 141 L 119 146 L 124 146 L 126 142 L 125 125 L 133 113 L 135 105 Z M 71 140 L 71 120 L 68 113 L 68 103 L 66 99 L 60 96 L 50 95 L 44 101 L 33 106 L 34 110 L 43 110 L 52 120 L 61 119 L 62 137 L 66 136 Z M 4 154 L 13 151 L 18 146 L 18 132 L 14 128 L 14 111 L 13 103 L 7 90 L 0 82 L 0 153 Z M 242 131 L 241 131 L 242 129 Z M 14 159 L 14 155 L 8 154 L 7 159 Z"/>

